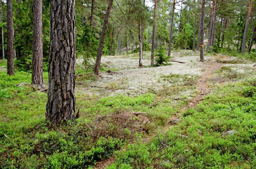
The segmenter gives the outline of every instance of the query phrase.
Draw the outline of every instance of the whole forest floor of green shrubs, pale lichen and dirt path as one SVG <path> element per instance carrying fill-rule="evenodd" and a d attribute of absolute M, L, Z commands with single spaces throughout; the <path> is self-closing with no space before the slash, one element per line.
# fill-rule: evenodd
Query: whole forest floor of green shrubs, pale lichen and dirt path
<path fill-rule="evenodd" d="M 145 67 L 138 53 L 103 56 L 99 76 L 78 58 L 80 118 L 59 128 L 45 122 L 46 91 L 32 88 L 28 73 L 6 76 L 2 62 L 1 92 L 10 86 L 1 98 L 0 167 L 256 166 L 255 62 L 222 54 L 199 62 L 198 52 L 180 50 L 172 65 L 149 67 L 150 52 L 143 56 Z"/>

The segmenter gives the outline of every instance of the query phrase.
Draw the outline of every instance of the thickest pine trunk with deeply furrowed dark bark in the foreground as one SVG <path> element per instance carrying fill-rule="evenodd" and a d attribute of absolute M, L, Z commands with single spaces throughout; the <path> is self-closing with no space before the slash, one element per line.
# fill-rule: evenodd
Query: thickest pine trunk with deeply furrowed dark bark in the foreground
<path fill-rule="evenodd" d="M 75 0 L 51 0 L 46 120 L 59 126 L 75 120 Z"/>

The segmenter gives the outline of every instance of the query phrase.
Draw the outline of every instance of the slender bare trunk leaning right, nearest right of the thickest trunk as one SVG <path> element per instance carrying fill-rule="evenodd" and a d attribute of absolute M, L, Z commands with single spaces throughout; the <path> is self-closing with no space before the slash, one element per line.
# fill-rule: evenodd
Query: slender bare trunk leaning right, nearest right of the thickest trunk
<path fill-rule="evenodd" d="M 104 39 L 105 39 L 105 34 L 106 34 L 106 30 L 107 30 L 107 24 L 108 24 L 112 4 L 113 4 L 113 0 L 109 0 L 108 8 L 107 8 L 105 19 L 104 19 L 104 24 L 102 27 L 100 44 L 99 44 L 98 54 L 97 54 L 97 58 L 96 58 L 96 64 L 95 64 L 95 68 L 94 68 L 94 72 L 96 75 L 100 74 L 100 61 L 101 61 L 103 43 L 104 43 Z"/>

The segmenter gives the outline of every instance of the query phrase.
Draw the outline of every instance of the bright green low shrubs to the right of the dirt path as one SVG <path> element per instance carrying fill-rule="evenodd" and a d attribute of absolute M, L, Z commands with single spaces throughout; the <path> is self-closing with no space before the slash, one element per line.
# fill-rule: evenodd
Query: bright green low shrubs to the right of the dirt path
<path fill-rule="evenodd" d="M 117 151 L 108 168 L 255 168 L 255 99 L 255 79 L 222 85 L 166 134 Z"/>

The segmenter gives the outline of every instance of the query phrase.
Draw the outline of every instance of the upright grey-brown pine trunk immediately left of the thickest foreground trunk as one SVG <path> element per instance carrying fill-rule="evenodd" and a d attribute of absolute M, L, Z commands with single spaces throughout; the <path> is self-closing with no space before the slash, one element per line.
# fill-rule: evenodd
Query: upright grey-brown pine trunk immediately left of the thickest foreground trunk
<path fill-rule="evenodd" d="M 32 85 L 38 89 L 45 88 L 43 80 L 43 24 L 42 0 L 33 1 L 33 58 Z"/>

